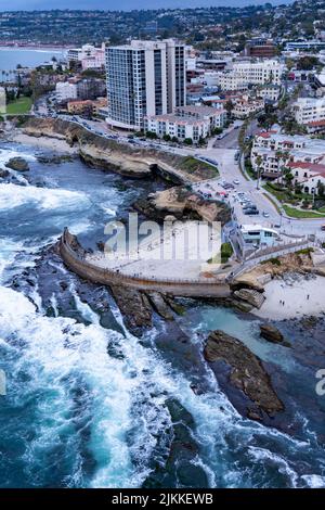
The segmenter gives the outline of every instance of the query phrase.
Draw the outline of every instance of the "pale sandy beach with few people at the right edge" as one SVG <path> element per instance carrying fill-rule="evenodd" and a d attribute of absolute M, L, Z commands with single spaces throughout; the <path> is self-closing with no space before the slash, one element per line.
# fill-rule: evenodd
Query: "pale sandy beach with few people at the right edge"
<path fill-rule="evenodd" d="M 297 280 L 272 280 L 265 285 L 265 297 L 261 308 L 253 310 L 256 316 L 263 319 L 318 316 L 325 314 L 325 279 L 306 279 L 300 276 Z"/>

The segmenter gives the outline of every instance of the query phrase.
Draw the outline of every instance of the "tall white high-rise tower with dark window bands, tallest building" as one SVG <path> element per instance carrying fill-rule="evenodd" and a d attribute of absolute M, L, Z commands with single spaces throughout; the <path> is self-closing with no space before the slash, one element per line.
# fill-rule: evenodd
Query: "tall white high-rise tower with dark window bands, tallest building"
<path fill-rule="evenodd" d="M 106 73 L 112 126 L 140 130 L 146 115 L 185 104 L 184 46 L 173 40 L 107 47 Z"/>

